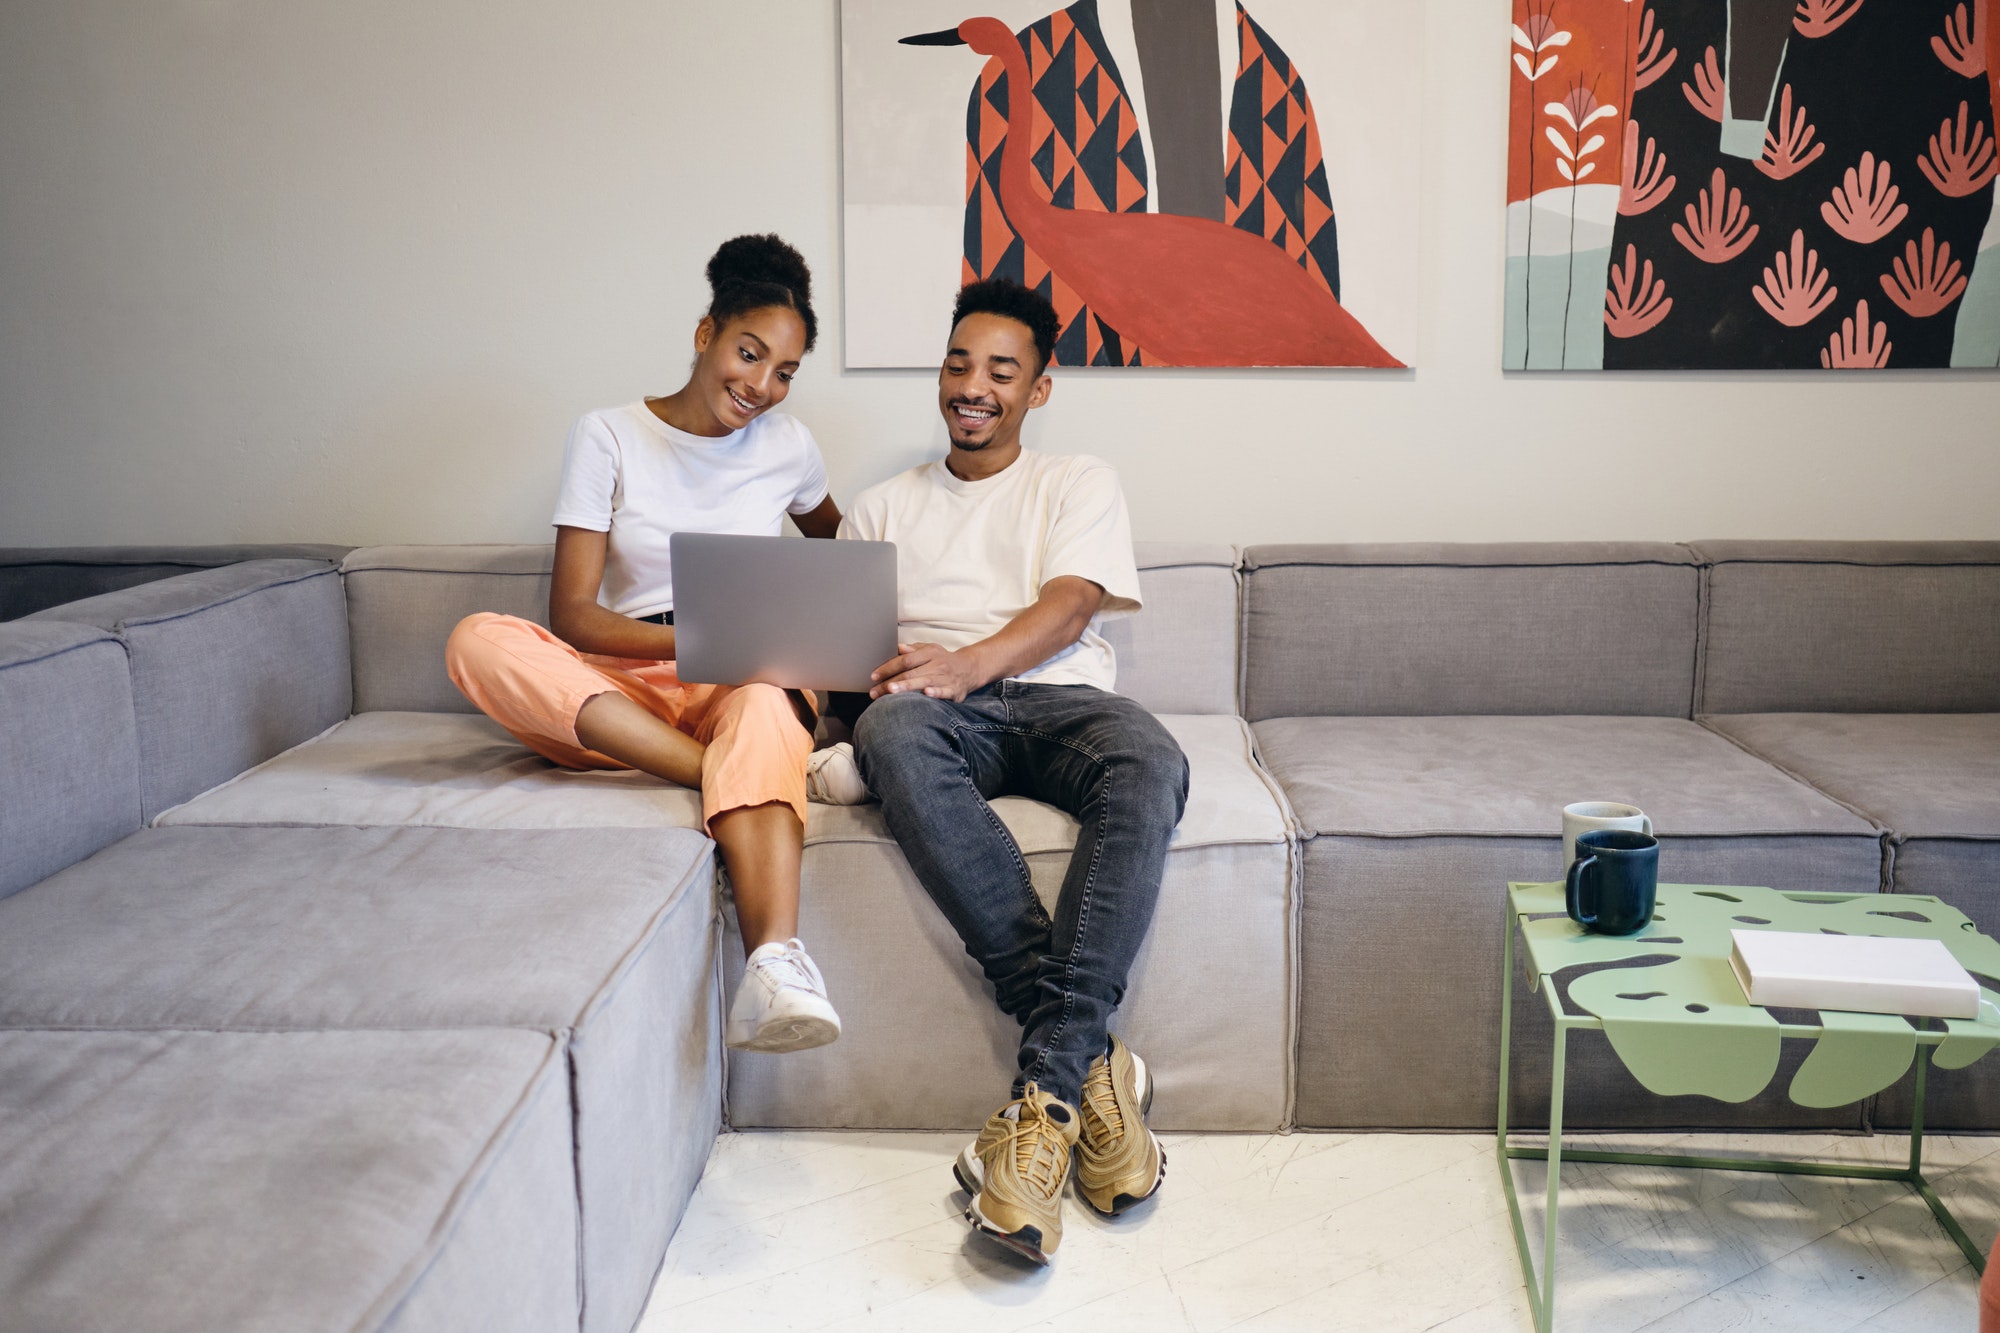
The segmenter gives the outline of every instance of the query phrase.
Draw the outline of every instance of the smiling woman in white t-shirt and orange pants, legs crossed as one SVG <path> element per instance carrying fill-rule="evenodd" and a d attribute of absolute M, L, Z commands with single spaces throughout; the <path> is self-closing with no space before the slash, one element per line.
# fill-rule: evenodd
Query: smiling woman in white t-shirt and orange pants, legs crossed
<path fill-rule="evenodd" d="M 806 260 L 776 236 L 724 242 L 708 286 L 688 382 L 570 428 L 550 628 L 466 616 L 446 666 L 482 713 L 566 769 L 642 769 L 702 789 L 750 955 L 728 1043 L 804 1051 L 840 1035 L 798 943 L 812 703 L 770 685 L 680 683 L 668 538 L 776 536 L 786 514 L 806 536 L 834 536 L 820 446 L 774 410 L 818 320 Z"/>

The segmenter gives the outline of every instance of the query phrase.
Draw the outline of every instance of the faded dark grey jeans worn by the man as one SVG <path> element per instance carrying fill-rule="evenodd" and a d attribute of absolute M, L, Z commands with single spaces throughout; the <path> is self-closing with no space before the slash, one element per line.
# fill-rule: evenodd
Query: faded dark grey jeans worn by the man
<path fill-rule="evenodd" d="M 1088 685 L 1000 681 L 962 703 L 888 695 L 854 753 L 916 879 L 1022 1025 L 1014 1095 L 1072 1107 L 1152 925 L 1188 761 L 1156 717 Z M 1082 823 L 1050 921 L 992 797 Z"/>

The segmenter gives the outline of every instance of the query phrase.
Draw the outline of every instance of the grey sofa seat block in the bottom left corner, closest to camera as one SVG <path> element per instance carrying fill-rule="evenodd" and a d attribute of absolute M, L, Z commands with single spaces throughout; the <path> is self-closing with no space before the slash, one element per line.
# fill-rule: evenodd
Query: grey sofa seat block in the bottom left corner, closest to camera
<path fill-rule="evenodd" d="M 576 1327 L 546 1033 L 0 1031 L 0 1325 Z"/>

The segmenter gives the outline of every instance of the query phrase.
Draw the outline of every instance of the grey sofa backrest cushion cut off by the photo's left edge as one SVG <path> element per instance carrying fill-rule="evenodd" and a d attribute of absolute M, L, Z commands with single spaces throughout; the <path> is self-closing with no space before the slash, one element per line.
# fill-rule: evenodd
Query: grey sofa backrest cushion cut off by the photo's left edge
<path fill-rule="evenodd" d="M 140 827 L 132 673 L 90 624 L 0 624 L 0 899 Z"/>

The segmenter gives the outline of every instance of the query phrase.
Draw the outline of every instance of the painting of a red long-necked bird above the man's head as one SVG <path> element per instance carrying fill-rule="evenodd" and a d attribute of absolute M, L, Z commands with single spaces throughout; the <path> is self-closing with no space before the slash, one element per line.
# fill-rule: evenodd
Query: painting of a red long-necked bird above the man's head
<path fill-rule="evenodd" d="M 934 364 L 982 280 L 1056 366 L 1406 366 L 1422 6 L 838 4 L 850 366 Z"/>

